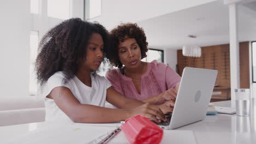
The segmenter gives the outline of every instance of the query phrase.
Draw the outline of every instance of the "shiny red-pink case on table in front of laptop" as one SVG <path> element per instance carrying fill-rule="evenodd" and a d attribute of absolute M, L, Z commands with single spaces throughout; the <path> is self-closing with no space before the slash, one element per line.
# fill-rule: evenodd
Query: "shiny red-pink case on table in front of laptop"
<path fill-rule="evenodd" d="M 121 129 L 130 143 L 160 143 L 164 134 L 158 125 L 141 115 L 126 119 Z"/>

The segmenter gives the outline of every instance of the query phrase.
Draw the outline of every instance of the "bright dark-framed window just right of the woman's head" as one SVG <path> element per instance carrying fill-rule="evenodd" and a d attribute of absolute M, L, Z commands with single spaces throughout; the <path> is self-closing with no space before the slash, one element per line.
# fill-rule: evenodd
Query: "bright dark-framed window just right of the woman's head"
<path fill-rule="evenodd" d="M 147 53 L 147 58 L 143 58 L 143 62 L 152 62 L 155 59 L 158 60 L 158 62 L 164 63 L 164 51 L 163 50 L 157 50 L 157 49 L 149 49 Z"/>

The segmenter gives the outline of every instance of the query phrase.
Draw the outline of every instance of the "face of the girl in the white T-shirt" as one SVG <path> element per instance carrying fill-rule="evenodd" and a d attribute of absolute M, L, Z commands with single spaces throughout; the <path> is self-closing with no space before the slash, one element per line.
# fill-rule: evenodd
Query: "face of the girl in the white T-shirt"
<path fill-rule="evenodd" d="M 83 61 L 83 69 L 97 70 L 103 60 L 103 40 L 100 34 L 92 33 L 86 47 L 86 58 Z"/>

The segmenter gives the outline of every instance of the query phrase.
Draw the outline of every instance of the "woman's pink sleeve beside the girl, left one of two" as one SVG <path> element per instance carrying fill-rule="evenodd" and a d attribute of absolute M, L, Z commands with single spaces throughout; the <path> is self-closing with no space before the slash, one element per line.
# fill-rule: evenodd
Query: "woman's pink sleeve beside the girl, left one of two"
<path fill-rule="evenodd" d="M 118 69 L 117 69 L 118 70 Z M 120 79 L 121 77 L 117 73 L 115 69 L 110 69 L 106 73 L 107 80 L 111 83 L 112 87 L 115 89 L 115 91 L 119 92 L 120 94 L 124 95 L 124 92 L 121 89 Z"/>

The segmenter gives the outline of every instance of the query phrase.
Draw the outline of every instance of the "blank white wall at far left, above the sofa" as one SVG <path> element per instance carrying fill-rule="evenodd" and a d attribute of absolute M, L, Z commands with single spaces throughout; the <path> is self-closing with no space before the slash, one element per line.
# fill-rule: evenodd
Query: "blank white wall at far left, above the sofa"
<path fill-rule="evenodd" d="M 30 1 L 0 1 L 0 98 L 28 95 Z"/>

